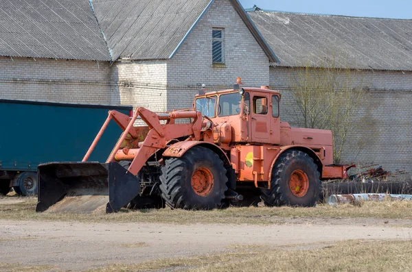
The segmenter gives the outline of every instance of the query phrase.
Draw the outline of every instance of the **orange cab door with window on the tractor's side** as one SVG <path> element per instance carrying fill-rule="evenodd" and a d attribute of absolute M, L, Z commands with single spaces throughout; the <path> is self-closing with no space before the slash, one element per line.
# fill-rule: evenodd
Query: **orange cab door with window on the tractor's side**
<path fill-rule="evenodd" d="M 251 109 L 252 142 L 270 143 L 270 120 L 272 114 L 268 112 L 269 99 L 267 94 L 253 95 Z"/>

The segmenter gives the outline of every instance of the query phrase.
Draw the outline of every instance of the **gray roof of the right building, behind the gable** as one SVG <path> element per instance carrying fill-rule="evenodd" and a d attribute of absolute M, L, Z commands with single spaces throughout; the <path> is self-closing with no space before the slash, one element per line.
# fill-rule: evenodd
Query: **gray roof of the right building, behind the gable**
<path fill-rule="evenodd" d="M 275 66 L 412 71 L 412 20 L 249 10 Z"/>

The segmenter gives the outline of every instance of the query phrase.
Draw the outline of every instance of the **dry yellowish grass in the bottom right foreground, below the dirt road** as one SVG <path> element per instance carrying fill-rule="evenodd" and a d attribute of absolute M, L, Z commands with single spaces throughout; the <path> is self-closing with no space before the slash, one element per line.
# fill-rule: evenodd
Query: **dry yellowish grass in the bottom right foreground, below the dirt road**
<path fill-rule="evenodd" d="M 240 247 L 239 251 L 162 259 L 140 264 L 113 264 L 95 271 L 412 271 L 412 242 L 348 240 L 321 248 L 271 249 Z"/>

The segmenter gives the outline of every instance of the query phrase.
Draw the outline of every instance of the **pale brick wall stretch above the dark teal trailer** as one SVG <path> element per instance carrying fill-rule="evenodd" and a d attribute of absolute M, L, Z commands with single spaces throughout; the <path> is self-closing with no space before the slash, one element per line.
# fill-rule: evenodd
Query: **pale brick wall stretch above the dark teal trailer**
<path fill-rule="evenodd" d="M 0 57 L 0 98 L 118 104 L 108 62 Z"/>

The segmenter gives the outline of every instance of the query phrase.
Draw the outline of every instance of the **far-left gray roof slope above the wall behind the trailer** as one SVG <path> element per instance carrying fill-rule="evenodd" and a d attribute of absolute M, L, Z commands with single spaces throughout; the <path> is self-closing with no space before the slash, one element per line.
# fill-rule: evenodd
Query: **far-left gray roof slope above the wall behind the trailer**
<path fill-rule="evenodd" d="M 87 0 L 1 0 L 0 55 L 110 60 Z"/>

